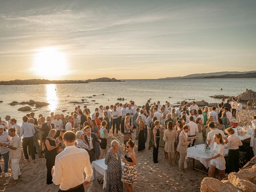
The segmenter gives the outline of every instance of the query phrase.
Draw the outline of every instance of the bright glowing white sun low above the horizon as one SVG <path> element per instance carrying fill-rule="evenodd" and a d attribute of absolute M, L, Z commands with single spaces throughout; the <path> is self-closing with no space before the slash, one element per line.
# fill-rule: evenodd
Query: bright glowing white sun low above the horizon
<path fill-rule="evenodd" d="M 32 70 L 40 77 L 57 80 L 68 74 L 66 55 L 57 48 L 42 48 L 34 56 Z"/>

